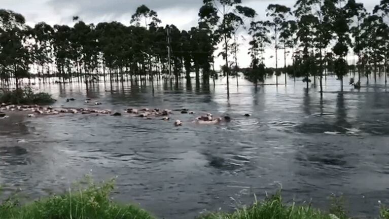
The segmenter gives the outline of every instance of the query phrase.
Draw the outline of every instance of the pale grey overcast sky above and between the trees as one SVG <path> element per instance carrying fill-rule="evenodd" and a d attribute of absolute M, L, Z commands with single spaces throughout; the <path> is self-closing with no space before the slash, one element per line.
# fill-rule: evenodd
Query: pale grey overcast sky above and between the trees
<path fill-rule="evenodd" d="M 252 7 L 257 11 L 257 20 L 266 19 L 265 9 L 269 4 L 282 4 L 293 7 L 295 0 L 242 0 L 243 5 Z M 368 11 L 379 0 L 360 0 Z M 128 25 L 131 15 L 136 8 L 145 4 L 158 13 L 162 25 L 174 24 L 180 29 L 189 29 L 195 26 L 198 21 L 198 9 L 202 0 L 0 0 L 0 7 L 13 10 L 25 16 L 28 25 L 45 21 L 48 24 L 72 25 L 73 16 L 79 16 L 86 23 L 98 23 L 101 21 L 120 21 Z M 247 41 L 250 38 L 244 34 L 246 41 L 241 40 L 239 52 L 239 64 L 247 66 L 250 64 L 250 57 L 247 55 Z M 248 38 L 248 39 L 247 39 Z M 266 53 L 268 66 L 274 65 L 270 56 L 273 51 L 269 49 Z M 279 57 L 279 63 L 283 65 L 284 60 Z M 221 64 L 219 60 L 217 64 Z"/>

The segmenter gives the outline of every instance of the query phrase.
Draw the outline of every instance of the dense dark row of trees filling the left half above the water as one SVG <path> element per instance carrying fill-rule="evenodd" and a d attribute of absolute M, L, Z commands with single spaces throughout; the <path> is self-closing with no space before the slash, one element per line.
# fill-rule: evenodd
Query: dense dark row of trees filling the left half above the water
<path fill-rule="evenodd" d="M 97 76 L 111 82 L 128 77 L 178 78 L 183 69 L 188 78 L 194 70 L 196 79 L 200 72 L 204 81 L 209 79 L 214 48 L 207 29 L 160 27 L 157 13 L 146 6 L 136 10 L 130 26 L 119 22 L 86 24 L 79 17 L 73 20 L 73 27 L 44 22 L 29 27 L 22 15 L 0 10 L 2 82 L 7 85 L 14 80 L 18 86 L 21 79 L 35 72 L 42 83 L 57 77 L 60 82 L 77 80 L 88 85 Z"/>

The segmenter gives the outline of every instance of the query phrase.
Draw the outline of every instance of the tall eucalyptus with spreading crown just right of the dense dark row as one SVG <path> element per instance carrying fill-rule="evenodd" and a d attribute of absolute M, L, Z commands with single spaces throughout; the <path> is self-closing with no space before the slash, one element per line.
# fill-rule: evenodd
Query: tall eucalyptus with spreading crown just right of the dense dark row
<path fill-rule="evenodd" d="M 203 6 L 199 10 L 200 20 L 215 30 L 219 42 L 223 42 L 225 60 L 225 75 L 227 76 L 227 94 L 229 95 L 229 62 L 228 51 L 230 40 L 239 26 L 244 25 L 244 18 L 254 18 L 256 12 L 241 6 L 241 0 L 203 0 Z"/>

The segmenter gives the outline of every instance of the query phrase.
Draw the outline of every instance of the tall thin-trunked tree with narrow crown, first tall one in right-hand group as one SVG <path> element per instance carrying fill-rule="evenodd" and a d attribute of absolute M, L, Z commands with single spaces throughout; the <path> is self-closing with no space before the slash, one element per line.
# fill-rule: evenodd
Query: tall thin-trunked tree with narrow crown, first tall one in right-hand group
<path fill-rule="evenodd" d="M 291 9 L 278 4 L 270 4 L 266 9 L 266 16 L 269 17 L 271 20 L 269 20 L 267 25 L 270 27 L 270 29 L 273 31 L 273 35 L 271 39 L 274 41 L 274 50 L 275 50 L 275 76 L 276 76 L 276 84 L 278 85 L 278 76 L 279 76 L 279 70 L 278 70 L 278 49 L 279 49 L 279 38 L 280 33 L 282 31 L 282 25 L 287 22 L 288 15 L 292 15 Z M 286 82 L 286 76 L 285 76 L 285 83 Z"/>

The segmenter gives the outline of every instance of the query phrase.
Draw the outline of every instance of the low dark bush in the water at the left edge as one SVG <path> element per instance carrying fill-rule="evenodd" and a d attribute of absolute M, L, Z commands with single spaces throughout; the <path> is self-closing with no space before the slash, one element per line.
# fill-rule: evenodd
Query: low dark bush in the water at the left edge
<path fill-rule="evenodd" d="M 48 93 L 34 93 L 30 87 L 0 91 L 0 102 L 11 104 L 50 104 L 55 99 Z"/>

